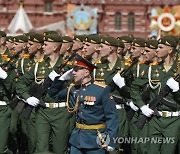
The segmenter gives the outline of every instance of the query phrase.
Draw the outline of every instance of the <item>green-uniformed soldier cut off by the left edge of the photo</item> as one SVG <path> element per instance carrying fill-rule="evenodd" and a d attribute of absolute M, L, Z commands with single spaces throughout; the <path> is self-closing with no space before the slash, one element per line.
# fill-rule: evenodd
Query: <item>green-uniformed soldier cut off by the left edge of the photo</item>
<path fill-rule="evenodd" d="M 0 153 L 10 153 L 7 149 L 8 134 L 11 120 L 11 109 L 9 101 L 11 100 L 11 86 L 8 79 L 8 69 L 10 59 L 6 44 L 6 33 L 0 31 Z"/>

